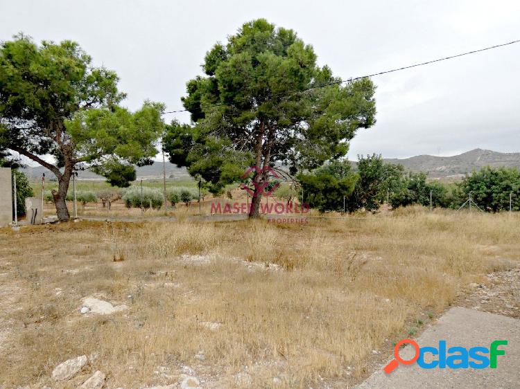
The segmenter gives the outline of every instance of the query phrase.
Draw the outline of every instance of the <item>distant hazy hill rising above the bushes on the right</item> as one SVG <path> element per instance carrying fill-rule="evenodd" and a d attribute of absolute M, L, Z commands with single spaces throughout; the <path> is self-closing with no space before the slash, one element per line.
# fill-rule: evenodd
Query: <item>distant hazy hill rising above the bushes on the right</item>
<path fill-rule="evenodd" d="M 460 177 L 487 165 L 520 169 L 520 153 L 475 149 L 455 156 L 418 155 L 407 159 L 385 159 L 385 162 L 400 163 L 412 172 L 428 172 L 431 178 Z"/>

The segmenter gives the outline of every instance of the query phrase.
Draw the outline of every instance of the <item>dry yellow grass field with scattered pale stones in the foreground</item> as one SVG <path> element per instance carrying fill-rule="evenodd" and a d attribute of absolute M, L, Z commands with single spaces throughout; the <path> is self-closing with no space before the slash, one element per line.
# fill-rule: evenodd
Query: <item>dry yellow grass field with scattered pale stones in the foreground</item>
<path fill-rule="evenodd" d="M 471 282 L 520 265 L 520 215 L 423 208 L 261 221 L 0 230 L 0 386 L 345 388 Z M 94 296 L 127 305 L 81 314 Z"/>

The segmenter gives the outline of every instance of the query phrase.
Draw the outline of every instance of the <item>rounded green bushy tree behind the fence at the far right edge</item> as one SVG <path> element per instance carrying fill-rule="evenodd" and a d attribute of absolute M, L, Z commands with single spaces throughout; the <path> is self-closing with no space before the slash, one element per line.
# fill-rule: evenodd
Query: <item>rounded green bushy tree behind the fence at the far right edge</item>
<path fill-rule="evenodd" d="M 465 199 L 471 192 L 471 199 L 483 210 L 509 210 L 510 194 L 513 210 L 520 210 L 520 171 L 516 168 L 482 168 L 465 177 L 460 188 Z"/>

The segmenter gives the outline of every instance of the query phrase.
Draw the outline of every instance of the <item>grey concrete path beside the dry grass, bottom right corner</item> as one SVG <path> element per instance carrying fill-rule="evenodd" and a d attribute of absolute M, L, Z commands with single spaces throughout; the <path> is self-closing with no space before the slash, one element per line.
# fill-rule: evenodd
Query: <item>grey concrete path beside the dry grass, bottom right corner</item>
<path fill-rule="evenodd" d="M 447 347 L 475 346 L 489 348 L 494 340 L 506 340 L 507 346 L 500 346 L 505 355 L 498 356 L 496 369 L 422 369 L 413 365 L 399 365 L 390 374 L 383 367 L 369 379 L 357 386 L 368 388 L 520 388 L 520 320 L 489 314 L 462 307 L 447 311 L 432 327 L 414 339 L 419 347 L 438 347 L 438 341 L 447 341 Z M 406 345 L 399 352 L 402 359 L 412 359 L 415 350 Z M 426 354 L 431 356 L 431 354 Z M 392 356 L 393 357 L 393 356 Z M 392 358 L 393 359 L 393 358 Z M 436 357 L 435 357 L 436 359 Z M 428 359 L 425 357 L 425 360 Z M 433 360 L 430 358 L 429 361 Z M 390 361 L 390 360 L 389 360 Z"/>

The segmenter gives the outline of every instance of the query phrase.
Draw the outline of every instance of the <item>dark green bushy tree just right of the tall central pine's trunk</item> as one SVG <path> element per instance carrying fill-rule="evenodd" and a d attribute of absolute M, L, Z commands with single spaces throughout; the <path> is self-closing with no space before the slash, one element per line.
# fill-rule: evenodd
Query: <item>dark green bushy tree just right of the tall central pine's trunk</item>
<path fill-rule="evenodd" d="M 303 188 L 303 199 L 320 212 L 343 211 L 343 198 L 349 198 L 354 191 L 357 174 L 353 174 L 349 161 L 332 161 L 316 169 L 311 174 L 300 174 L 298 181 Z"/>

